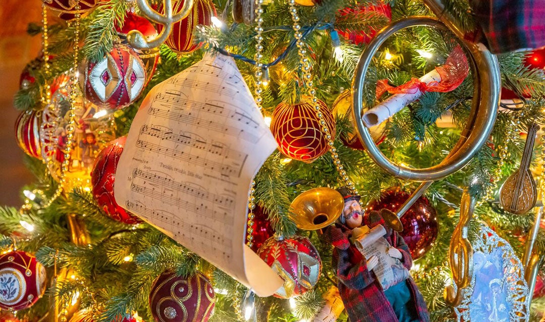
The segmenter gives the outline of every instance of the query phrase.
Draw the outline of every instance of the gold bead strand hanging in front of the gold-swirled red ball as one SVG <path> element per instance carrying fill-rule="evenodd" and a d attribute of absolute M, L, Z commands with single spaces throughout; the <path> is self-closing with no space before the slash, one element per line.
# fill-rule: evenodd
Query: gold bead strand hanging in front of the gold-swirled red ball
<path fill-rule="evenodd" d="M 328 143 L 329 151 L 331 153 L 331 159 L 333 160 L 333 163 L 335 164 L 335 167 L 337 168 L 337 171 L 341 176 L 342 185 L 348 186 L 350 191 L 352 191 L 354 195 L 358 195 L 358 190 L 356 190 L 355 184 L 348 177 L 343 165 L 341 164 L 341 160 L 338 157 L 337 148 L 335 148 L 334 145 L 335 138 L 331 135 L 331 131 L 329 130 L 328 125 L 324 120 L 324 116 L 322 112 L 320 112 L 320 105 L 318 104 L 316 90 L 314 89 L 314 84 L 312 82 L 311 65 L 308 58 L 306 57 L 307 51 L 305 49 L 305 42 L 302 41 L 303 34 L 301 32 L 301 26 L 299 25 L 299 16 L 297 14 L 297 8 L 295 8 L 295 0 L 289 0 L 288 3 L 289 11 L 292 14 L 293 31 L 295 32 L 296 39 L 295 45 L 298 49 L 300 68 L 303 74 L 303 84 L 307 89 L 307 95 L 310 97 L 311 104 L 314 105 L 314 112 L 316 113 L 316 117 L 319 119 L 319 123 L 322 126 L 321 130 L 324 133 L 324 136 Z"/>

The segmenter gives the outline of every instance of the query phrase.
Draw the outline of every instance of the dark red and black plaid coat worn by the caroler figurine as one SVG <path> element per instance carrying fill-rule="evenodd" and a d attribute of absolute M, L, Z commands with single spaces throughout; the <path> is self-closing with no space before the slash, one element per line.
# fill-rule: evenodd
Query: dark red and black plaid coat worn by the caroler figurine
<path fill-rule="evenodd" d="M 378 215 L 378 212 L 376 214 Z M 370 216 L 372 215 L 373 213 Z M 380 223 L 378 220 L 370 220 L 370 216 L 364 216 L 364 224 L 372 228 Z M 391 228 L 386 228 L 386 231 L 386 240 L 401 252 L 403 256 L 401 262 L 405 268 L 410 269 L 413 259 L 410 256 L 409 247 L 397 232 L 393 232 Z M 350 244 L 348 239 L 351 233 L 350 228 L 336 223 L 335 226 L 330 226 L 328 232 L 328 237 L 335 246 L 333 267 L 337 268 L 339 280 L 337 286 L 350 322 L 397 322 L 396 314 L 386 299 L 374 272 L 367 270 L 365 259 L 358 249 Z M 413 278 L 409 277 L 407 282 L 410 285 L 419 320 L 429 321 L 426 302 L 420 290 L 416 287 Z"/>

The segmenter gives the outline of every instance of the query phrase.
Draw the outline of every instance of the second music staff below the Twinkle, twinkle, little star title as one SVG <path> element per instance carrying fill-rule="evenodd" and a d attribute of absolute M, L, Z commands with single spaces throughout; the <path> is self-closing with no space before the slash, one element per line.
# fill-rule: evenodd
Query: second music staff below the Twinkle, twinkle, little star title
<path fill-rule="evenodd" d="M 222 224 L 231 224 L 227 218 L 227 209 L 223 210 L 223 214 L 221 214 L 219 211 L 216 210 L 216 208 L 223 208 L 221 206 L 213 206 L 212 209 L 208 208 L 208 205 L 205 203 L 201 203 L 200 205 L 194 202 L 190 202 L 186 199 L 179 198 L 177 196 L 174 196 L 174 193 L 171 193 L 169 195 L 168 192 L 174 192 L 174 191 L 167 191 L 170 189 L 159 189 L 155 190 L 155 187 L 152 189 L 149 189 L 148 187 L 138 185 L 136 183 L 131 184 L 131 191 L 136 193 L 141 193 L 144 196 L 148 196 L 150 198 L 154 198 L 157 200 L 160 200 L 161 202 L 171 204 L 176 206 L 179 209 L 184 209 L 186 211 L 191 211 L 196 215 L 201 215 L 202 220 L 209 221 L 213 220 L 216 222 L 220 222 Z"/>

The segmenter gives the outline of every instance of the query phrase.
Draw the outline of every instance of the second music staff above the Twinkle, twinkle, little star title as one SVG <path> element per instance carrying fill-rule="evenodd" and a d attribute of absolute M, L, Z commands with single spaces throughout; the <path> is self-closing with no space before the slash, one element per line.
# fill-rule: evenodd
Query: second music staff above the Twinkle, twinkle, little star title
<path fill-rule="evenodd" d="M 171 141 L 177 144 L 184 144 L 188 147 L 196 148 L 199 150 L 207 150 L 209 153 L 215 154 L 217 156 L 223 156 L 225 157 L 225 159 L 229 159 L 229 157 L 233 154 L 237 155 L 236 159 L 244 158 L 243 153 L 235 149 L 231 149 L 230 147 L 226 147 L 222 143 L 214 143 L 214 141 L 209 143 L 207 142 L 207 139 L 194 133 L 183 132 L 180 134 L 175 134 L 169 127 L 161 125 L 143 125 L 140 128 L 140 133 L 160 138 L 162 140 Z"/>

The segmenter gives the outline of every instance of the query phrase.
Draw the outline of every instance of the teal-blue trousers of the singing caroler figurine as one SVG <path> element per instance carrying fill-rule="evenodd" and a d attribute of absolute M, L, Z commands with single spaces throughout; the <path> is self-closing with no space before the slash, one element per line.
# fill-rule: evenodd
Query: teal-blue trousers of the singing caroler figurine
<path fill-rule="evenodd" d="M 384 291 L 384 295 L 390 302 L 399 322 L 419 322 L 407 280 L 391 286 Z"/>

